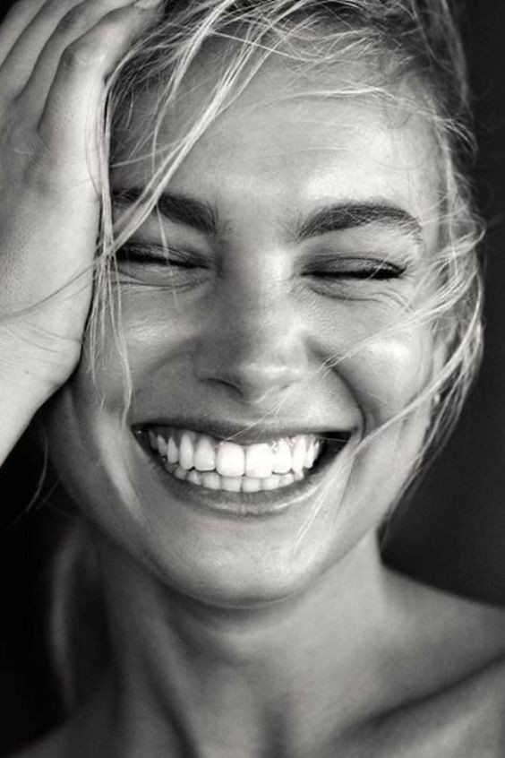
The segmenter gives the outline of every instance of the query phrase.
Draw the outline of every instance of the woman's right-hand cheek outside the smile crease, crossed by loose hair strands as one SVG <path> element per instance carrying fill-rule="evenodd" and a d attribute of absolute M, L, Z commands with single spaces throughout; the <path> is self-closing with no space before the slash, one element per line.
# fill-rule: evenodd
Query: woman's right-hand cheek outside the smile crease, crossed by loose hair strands
<path fill-rule="evenodd" d="M 364 522 L 381 521 L 415 469 L 430 421 L 430 402 L 403 418 L 398 415 L 423 391 L 434 368 L 429 330 L 376 336 L 343 368 L 364 417 L 364 444 L 342 503 L 358 529 Z"/>

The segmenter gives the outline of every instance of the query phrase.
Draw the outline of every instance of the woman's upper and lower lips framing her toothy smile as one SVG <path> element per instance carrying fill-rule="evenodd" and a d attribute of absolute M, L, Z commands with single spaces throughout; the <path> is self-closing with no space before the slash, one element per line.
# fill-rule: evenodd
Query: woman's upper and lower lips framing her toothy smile
<path fill-rule="evenodd" d="M 247 435 L 242 435 L 244 426 L 231 425 L 217 422 L 210 423 L 206 420 L 184 419 L 182 428 L 192 429 L 201 432 L 201 434 L 212 435 L 218 439 L 234 439 L 245 443 L 245 439 L 250 441 L 248 444 L 258 442 L 267 442 L 284 436 L 295 436 L 303 434 L 320 435 L 327 440 L 326 449 L 321 453 L 320 458 L 315 463 L 305 478 L 296 481 L 287 487 L 279 487 L 276 490 L 262 490 L 260 492 L 227 492 L 225 490 L 211 490 L 206 487 L 194 485 L 191 482 L 175 478 L 167 469 L 165 469 L 155 458 L 150 450 L 146 435 L 142 431 L 146 426 L 179 426 L 173 418 L 155 419 L 144 422 L 141 425 L 132 427 L 135 440 L 138 443 L 141 455 L 153 471 L 153 474 L 160 482 L 161 486 L 178 500 L 188 504 L 198 510 L 206 512 L 221 513 L 227 517 L 265 517 L 273 516 L 287 510 L 303 507 L 312 498 L 317 495 L 321 484 L 330 473 L 339 453 L 347 446 L 352 436 L 351 431 L 342 429 L 340 432 L 330 432 L 329 429 L 314 430 L 313 426 L 308 430 L 307 426 L 289 426 L 275 431 L 265 426 L 257 427 L 254 434 L 251 435 L 247 430 Z M 344 440 L 345 435 L 345 440 Z"/>

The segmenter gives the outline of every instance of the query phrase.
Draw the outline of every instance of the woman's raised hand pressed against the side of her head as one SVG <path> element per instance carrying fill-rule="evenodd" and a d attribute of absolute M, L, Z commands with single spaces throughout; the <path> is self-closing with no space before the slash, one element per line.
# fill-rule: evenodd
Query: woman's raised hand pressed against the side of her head
<path fill-rule="evenodd" d="M 107 74 L 156 18 L 139 6 L 21 0 L 0 27 L 0 390 L 23 386 L 38 405 L 81 354 L 98 235 L 98 105 Z"/>

